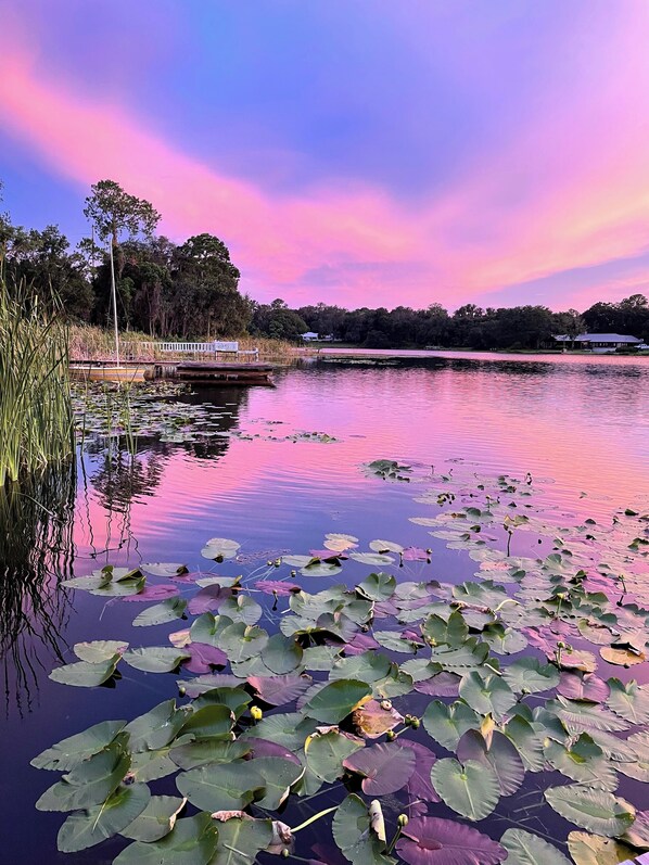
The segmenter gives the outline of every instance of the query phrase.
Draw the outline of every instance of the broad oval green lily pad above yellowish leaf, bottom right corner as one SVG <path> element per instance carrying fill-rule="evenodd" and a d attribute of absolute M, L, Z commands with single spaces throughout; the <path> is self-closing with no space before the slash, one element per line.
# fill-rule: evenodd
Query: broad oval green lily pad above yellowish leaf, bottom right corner
<path fill-rule="evenodd" d="M 578 784 L 548 787 L 548 803 L 565 817 L 588 831 L 609 838 L 622 835 L 635 819 L 635 807 L 624 799 L 605 790 L 589 790 Z"/>

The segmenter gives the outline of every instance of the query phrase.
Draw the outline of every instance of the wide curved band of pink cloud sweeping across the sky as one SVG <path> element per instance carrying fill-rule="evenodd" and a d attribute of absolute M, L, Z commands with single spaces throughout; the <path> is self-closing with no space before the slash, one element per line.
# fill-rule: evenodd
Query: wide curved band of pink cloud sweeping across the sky
<path fill-rule="evenodd" d="M 612 28 L 625 64 L 595 69 L 601 92 L 586 80 L 559 93 L 550 112 L 529 115 L 511 141 L 419 206 L 360 182 L 270 196 L 118 104 L 46 76 L 18 49 L 0 58 L 0 123 L 80 187 L 112 177 L 151 200 L 171 237 L 221 236 L 255 297 L 454 305 L 647 247 L 649 55 L 632 24 Z"/>

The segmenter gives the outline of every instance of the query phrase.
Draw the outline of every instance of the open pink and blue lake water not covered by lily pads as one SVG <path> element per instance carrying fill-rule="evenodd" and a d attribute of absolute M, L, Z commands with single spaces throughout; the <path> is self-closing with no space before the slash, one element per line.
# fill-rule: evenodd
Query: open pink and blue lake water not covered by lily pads
<path fill-rule="evenodd" d="M 466 554 L 447 550 L 408 521 L 420 512 L 411 487 L 359 470 L 359 463 L 377 458 L 436 470 L 461 460 L 480 472 L 529 471 L 543 481 L 542 500 L 557 519 L 603 516 L 649 492 L 646 359 L 445 353 L 398 364 L 329 360 L 280 371 L 275 389 L 202 391 L 189 399 L 206 400 L 221 416 L 222 434 L 209 447 L 143 442 L 135 466 L 125 457 L 110 470 L 103 458 L 85 457 L 69 526 L 74 543 L 61 568 L 80 575 L 107 561 L 205 567 L 200 549 L 213 536 L 234 538 L 251 560 L 265 560 L 282 550 L 320 548 L 326 532 L 345 532 L 365 548 L 377 537 L 431 545 L 427 575 L 470 577 L 475 569 Z M 324 432 L 338 441 L 269 440 L 296 431 Z M 412 567 L 408 578 L 417 578 L 419 568 Z M 310 590 L 322 587 L 301 582 Z M 58 591 L 51 578 L 37 594 L 42 603 L 29 602 L 26 616 L 37 636 L 24 634 L 14 652 L 18 674 L 5 658 L 0 858 L 109 863 L 120 842 L 109 842 L 99 853 L 56 853 L 61 815 L 34 810 L 54 775 L 30 768 L 29 759 L 92 723 L 130 718 L 174 696 L 175 677 L 142 676 L 127 667 L 114 690 L 49 682 L 55 656 L 39 634 L 49 634 L 66 661 L 67 647 L 77 640 L 125 638 L 140 645 L 130 622 L 142 608 L 104 606 L 85 593 L 73 598 Z M 2 619 L 5 649 L 12 621 Z M 158 645 L 169 629 L 153 629 Z M 141 635 L 142 644 L 155 641 L 153 631 Z"/>

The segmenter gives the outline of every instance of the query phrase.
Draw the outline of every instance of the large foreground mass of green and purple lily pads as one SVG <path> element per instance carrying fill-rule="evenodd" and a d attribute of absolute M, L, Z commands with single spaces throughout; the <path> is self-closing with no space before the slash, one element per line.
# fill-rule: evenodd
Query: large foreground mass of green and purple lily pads
<path fill-rule="evenodd" d="M 207 572 L 154 562 L 66 581 L 151 605 L 135 635 L 182 629 L 145 646 L 80 643 L 52 672 L 75 687 L 119 687 L 131 667 L 175 675 L 178 689 L 34 759 L 65 773 L 37 803 L 71 812 L 60 850 L 114 835 L 131 841 L 118 865 L 266 853 L 615 865 L 649 850 L 649 812 L 626 780 L 649 784 L 649 686 L 634 676 L 647 651 L 647 506 L 567 525 L 535 504 L 529 476 L 367 468 L 410 469 L 428 485 L 416 503 L 433 516 L 413 524 L 470 557 L 475 580 L 438 578 L 429 549 L 381 538 L 364 549 L 330 533 L 321 549 L 252 570 L 239 542 L 213 537 L 201 550 Z M 162 779 L 178 796 L 152 792 Z M 331 805 L 314 813 L 319 794 Z M 304 847 L 317 821 L 332 840 L 318 829 Z"/>

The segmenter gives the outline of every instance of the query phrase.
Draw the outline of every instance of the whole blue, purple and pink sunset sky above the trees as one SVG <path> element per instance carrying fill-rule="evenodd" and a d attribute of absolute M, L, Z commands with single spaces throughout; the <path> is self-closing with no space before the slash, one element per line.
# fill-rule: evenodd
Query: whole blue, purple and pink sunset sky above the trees
<path fill-rule="evenodd" d="M 260 302 L 649 294 L 647 0 L 0 0 L 0 179 L 117 180 Z"/>

